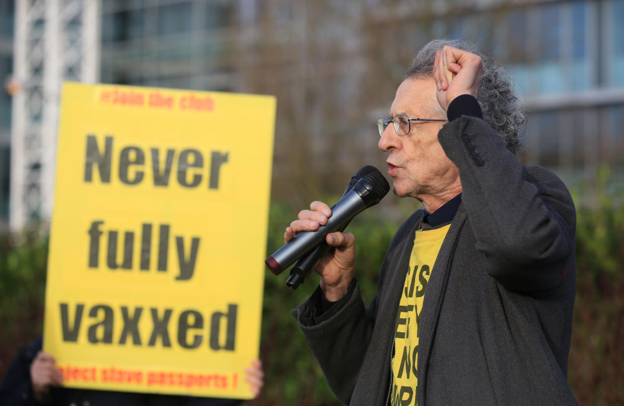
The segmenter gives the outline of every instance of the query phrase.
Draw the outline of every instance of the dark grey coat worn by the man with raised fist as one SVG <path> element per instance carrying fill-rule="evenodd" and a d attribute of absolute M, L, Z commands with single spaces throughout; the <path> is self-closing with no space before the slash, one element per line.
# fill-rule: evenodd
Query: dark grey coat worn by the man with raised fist
<path fill-rule="evenodd" d="M 576 221 L 567 188 L 545 168 L 522 167 L 479 118 L 454 120 L 438 138 L 463 192 L 424 296 L 418 404 L 576 404 L 567 382 Z M 386 404 L 397 308 L 421 216 L 416 211 L 392 239 L 368 307 L 353 283 L 325 314 L 315 314 L 318 290 L 293 310 L 345 404 Z"/>

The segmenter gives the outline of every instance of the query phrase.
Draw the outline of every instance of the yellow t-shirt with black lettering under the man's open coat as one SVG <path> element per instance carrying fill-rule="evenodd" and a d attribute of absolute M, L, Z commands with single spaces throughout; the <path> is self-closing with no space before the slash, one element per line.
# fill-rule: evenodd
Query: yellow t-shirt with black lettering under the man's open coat
<path fill-rule="evenodd" d="M 429 275 L 451 225 L 416 231 L 394 333 L 390 405 L 417 404 L 418 325 Z"/>

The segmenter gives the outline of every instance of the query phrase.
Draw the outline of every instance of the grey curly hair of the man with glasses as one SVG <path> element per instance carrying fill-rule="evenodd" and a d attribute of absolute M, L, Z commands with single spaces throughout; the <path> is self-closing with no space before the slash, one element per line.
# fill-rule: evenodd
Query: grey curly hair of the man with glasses
<path fill-rule="evenodd" d="M 520 132 L 526 119 L 514 92 L 514 80 L 502 64 L 485 56 L 479 46 L 460 40 L 434 39 L 422 47 L 412 59 L 403 80 L 432 77 L 436 51 L 444 46 L 462 49 L 481 58 L 483 76 L 477 100 L 483 112 L 483 119 L 498 133 L 505 148 L 518 155 L 522 150 Z"/>

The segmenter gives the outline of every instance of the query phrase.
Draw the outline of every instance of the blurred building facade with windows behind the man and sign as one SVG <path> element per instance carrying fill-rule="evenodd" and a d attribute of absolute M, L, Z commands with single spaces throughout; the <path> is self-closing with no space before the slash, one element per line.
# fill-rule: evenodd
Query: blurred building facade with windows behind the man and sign
<path fill-rule="evenodd" d="M 275 94 L 280 198 L 383 165 L 376 119 L 434 37 L 509 65 L 529 112 L 524 163 L 567 181 L 607 163 L 624 178 L 624 0 L 100 0 L 98 22 L 100 82 Z"/>

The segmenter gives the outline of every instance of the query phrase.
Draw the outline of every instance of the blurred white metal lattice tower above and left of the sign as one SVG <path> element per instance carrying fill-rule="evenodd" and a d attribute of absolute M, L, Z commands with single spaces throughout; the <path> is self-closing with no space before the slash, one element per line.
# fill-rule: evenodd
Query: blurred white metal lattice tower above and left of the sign
<path fill-rule="evenodd" d="M 49 223 L 64 80 L 95 83 L 100 66 L 99 0 L 16 0 L 9 226 Z"/>

